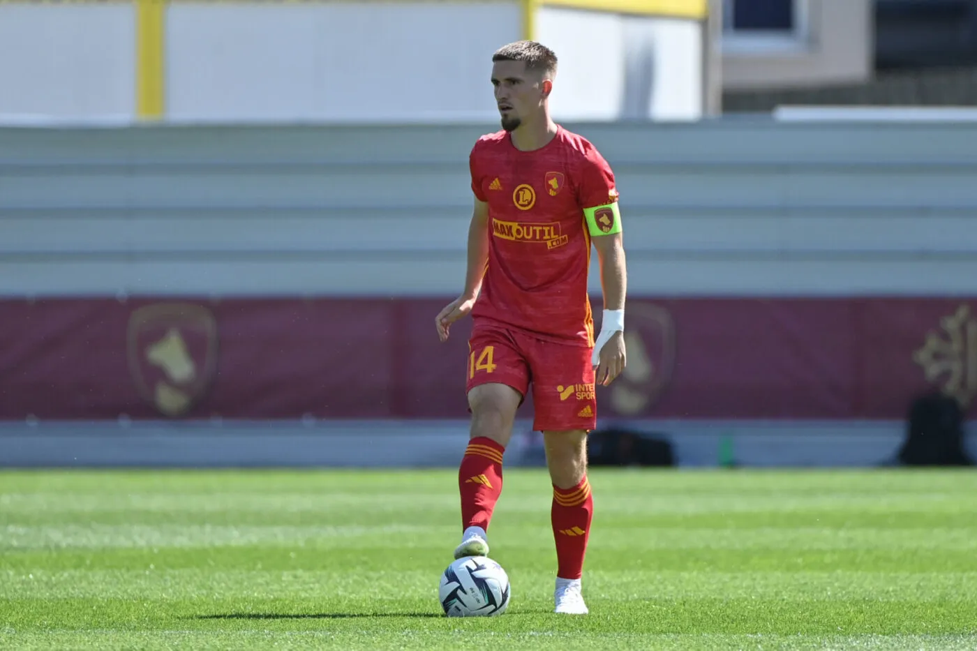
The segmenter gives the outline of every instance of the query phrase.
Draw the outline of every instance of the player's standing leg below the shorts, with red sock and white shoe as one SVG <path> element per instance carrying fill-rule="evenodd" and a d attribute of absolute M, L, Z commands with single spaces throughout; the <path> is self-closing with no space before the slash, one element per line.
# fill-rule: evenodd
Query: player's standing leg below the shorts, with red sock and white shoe
<path fill-rule="evenodd" d="M 543 442 L 553 483 L 551 519 L 558 563 L 555 612 L 586 615 L 580 579 L 594 510 L 587 481 L 587 433 L 543 432 Z"/>

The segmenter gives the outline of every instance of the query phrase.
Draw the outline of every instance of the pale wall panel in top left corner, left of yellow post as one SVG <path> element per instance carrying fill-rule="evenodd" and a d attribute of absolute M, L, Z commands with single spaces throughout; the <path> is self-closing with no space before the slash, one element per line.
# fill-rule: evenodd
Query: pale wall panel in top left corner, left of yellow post
<path fill-rule="evenodd" d="M 127 3 L 0 4 L 0 118 L 131 118 L 134 43 Z"/>

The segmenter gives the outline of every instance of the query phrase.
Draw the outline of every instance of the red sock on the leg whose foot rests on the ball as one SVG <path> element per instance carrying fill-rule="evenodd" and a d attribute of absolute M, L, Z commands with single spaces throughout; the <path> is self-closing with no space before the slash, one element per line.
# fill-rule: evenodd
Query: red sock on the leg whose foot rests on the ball
<path fill-rule="evenodd" d="M 502 494 L 503 452 L 505 448 L 485 437 L 468 442 L 458 468 L 462 531 L 468 527 L 482 527 L 488 531 L 491 512 Z"/>

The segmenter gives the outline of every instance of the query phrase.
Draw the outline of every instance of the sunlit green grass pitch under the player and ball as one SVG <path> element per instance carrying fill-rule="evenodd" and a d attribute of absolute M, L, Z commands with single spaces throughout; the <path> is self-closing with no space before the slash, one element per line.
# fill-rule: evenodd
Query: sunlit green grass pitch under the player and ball
<path fill-rule="evenodd" d="M 448 620 L 451 471 L 0 473 L 0 648 L 977 648 L 977 472 L 590 481 L 589 616 L 551 613 L 549 482 L 513 468 L 509 611 Z"/>

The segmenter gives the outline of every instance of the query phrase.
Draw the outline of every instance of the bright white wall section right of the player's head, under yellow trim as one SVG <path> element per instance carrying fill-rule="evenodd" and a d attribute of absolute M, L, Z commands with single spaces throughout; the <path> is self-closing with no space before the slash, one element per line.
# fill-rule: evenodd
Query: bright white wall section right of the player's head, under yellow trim
<path fill-rule="evenodd" d="M 699 22 L 544 7 L 537 29 L 561 61 L 552 100 L 558 119 L 701 117 Z"/>

